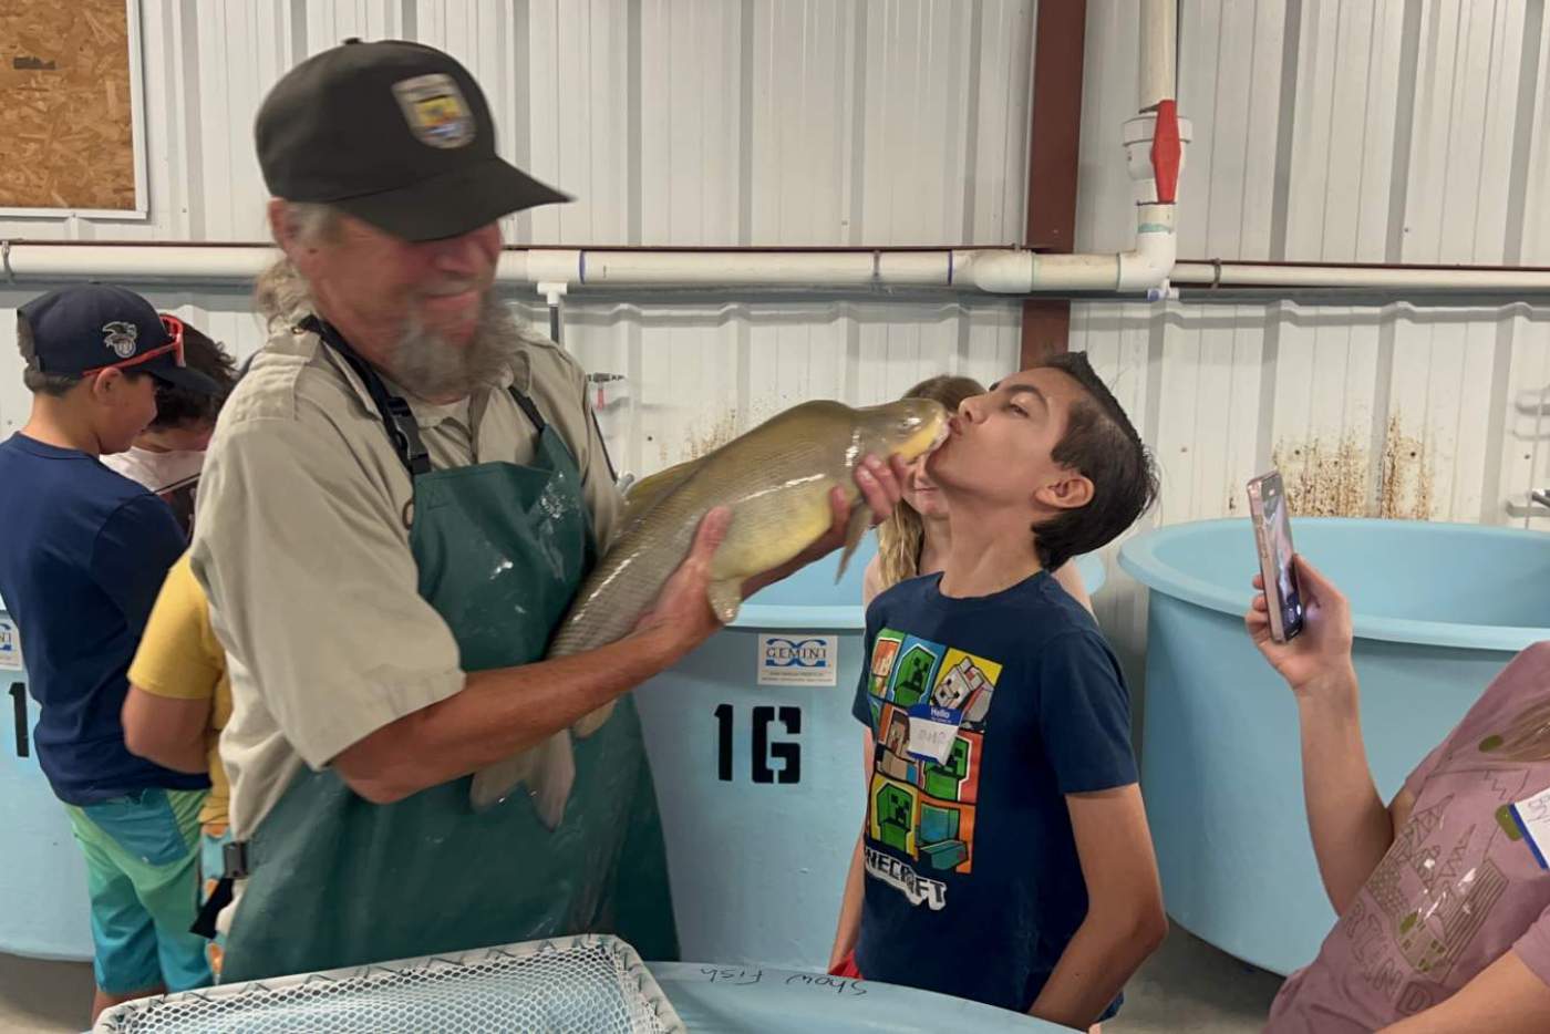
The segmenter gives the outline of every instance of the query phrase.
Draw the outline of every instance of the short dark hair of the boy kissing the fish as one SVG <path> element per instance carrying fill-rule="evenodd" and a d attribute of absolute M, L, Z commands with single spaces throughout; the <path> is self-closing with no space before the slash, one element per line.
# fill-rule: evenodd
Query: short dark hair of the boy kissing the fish
<path fill-rule="evenodd" d="M 1073 557 L 1102 549 L 1135 524 L 1158 498 L 1158 473 L 1130 417 L 1085 353 L 1066 352 L 1038 366 L 1060 371 L 1087 394 L 1071 406 L 1051 457 L 1091 481 L 1093 499 L 1032 529 L 1038 561 L 1056 570 Z"/>

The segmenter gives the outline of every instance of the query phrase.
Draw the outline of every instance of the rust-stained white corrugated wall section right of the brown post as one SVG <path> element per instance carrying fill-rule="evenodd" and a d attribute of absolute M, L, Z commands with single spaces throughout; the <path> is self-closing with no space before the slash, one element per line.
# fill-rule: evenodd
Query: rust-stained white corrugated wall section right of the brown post
<path fill-rule="evenodd" d="M 1544 6 L 1183 0 L 1180 254 L 1550 265 Z M 1124 0 L 1088 9 L 1077 246 L 1108 250 L 1136 26 Z M 1276 462 L 1300 512 L 1542 524 L 1522 504 L 1550 484 L 1550 308 L 1077 310 L 1073 347 L 1156 450 L 1152 521 L 1242 513 Z M 1110 570 L 1099 617 L 1133 662 L 1144 592 Z"/>

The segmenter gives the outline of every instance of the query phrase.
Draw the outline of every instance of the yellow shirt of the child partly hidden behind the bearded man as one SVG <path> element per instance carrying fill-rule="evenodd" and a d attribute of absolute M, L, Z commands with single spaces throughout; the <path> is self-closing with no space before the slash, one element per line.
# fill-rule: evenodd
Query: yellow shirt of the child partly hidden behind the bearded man
<path fill-rule="evenodd" d="M 231 679 L 226 676 L 226 651 L 209 626 L 209 600 L 194 578 L 188 553 L 167 572 L 135 662 L 129 667 L 129 681 L 155 696 L 212 701 L 209 730 L 205 733 L 211 789 L 198 820 L 206 826 L 225 826 L 231 784 L 220 764 L 220 730 L 231 719 Z"/>

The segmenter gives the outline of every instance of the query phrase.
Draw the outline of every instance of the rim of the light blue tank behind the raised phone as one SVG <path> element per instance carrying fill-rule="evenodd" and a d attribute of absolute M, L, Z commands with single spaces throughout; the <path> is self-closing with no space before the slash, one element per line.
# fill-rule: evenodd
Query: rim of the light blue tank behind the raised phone
<path fill-rule="evenodd" d="M 1372 529 L 1373 526 L 1406 524 L 1424 527 L 1443 533 L 1468 533 L 1480 538 L 1517 539 L 1519 543 L 1536 543 L 1541 549 L 1550 549 L 1550 536 L 1542 532 L 1530 532 L 1516 527 L 1493 527 L 1486 524 L 1459 524 L 1445 521 L 1380 521 L 1372 518 L 1294 518 L 1293 539 L 1296 529 L 1305 526 L 1322 526 L 1331 530 Z M 1220 584 L 1192 575 L 1186 570 L 1158 558 L 1158 550 L 1170 543 L 1192 535 L 1209 535 L 1232 529 L 1243 532 L 1248 529 L 1248 518 L 1223 518 L 1217 521 L 1187 521 L 1155 529 L 1128 539 L 1119 549 L 1119 567 L 1141 584 L 1155 589 L 1176 600 L 1203 606 L 1209 611 L 1242 617 L 1254 597 L 1249 578 L 1259 574 L 1259 561 L 1254 553 L 1243 558 L 1243 588 L 1226 589 Z M 1318 555 L 1308 560 L 1318 563 Z M 1500 650 L 1517 653 L 1533 643 L 1550 639 L 1550 628 L 1507 626 L 1507 625 L 1460 625 L 1454 622 L 1418 622 L 1400 617 L 1384 617 L 1381 614 L 1361 614 L 1353 609 L 1352 625 L 1356 639 L 1375 639 L 1390 643 L 1414 643 L 1426 646 L 1454 646 L 1462 650 Z"/>

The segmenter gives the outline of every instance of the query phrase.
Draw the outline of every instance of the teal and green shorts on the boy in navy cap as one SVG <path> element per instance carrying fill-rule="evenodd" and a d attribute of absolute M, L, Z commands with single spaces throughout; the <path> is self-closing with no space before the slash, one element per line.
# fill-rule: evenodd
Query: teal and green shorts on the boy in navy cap
<path fill-rule="evenodd" d="M 65 805 L 87 859 L 98 987 L 122 995 L 211 983 L 198 915 L 198 809 L 205 791 L 147 789 Z"/>

